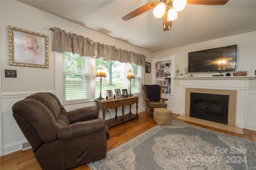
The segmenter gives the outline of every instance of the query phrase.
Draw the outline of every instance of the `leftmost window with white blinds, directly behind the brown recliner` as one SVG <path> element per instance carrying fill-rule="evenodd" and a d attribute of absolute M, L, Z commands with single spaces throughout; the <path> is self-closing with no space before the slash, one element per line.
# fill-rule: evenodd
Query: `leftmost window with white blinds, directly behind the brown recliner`
<path fill-rule="evenodd" d="M 90 100 L 90 57 L 63 52 L 63 103 Z"/>

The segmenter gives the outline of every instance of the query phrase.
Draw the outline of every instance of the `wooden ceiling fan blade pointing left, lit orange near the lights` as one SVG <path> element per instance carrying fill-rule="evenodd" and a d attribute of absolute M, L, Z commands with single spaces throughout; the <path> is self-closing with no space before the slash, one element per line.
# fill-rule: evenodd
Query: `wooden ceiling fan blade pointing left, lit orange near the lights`
<path fill-rule="evenodd" d="M 127 14 L 126 16 L 124 16 L 122 19 L 124 21 L 130 20 L 140 14 L 143 14 L 144 12 L 147 12 L 148 10 L 151 10 L 152 8 L 154 8 L 160 1 L 154 0 L 144 6 L 141 6 L 140 8 L 130 12 L 129 14 Z"/>

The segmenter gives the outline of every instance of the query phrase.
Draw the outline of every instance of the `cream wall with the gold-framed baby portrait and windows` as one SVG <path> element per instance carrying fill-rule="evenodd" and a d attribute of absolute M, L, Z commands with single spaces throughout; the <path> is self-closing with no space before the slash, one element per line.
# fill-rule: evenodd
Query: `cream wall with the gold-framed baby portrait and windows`
<path fill-rule="evenodd" d="M 36 8 L 27 6 L 18 1 L 0 1 L 0 16 L 1 16 L 1 95 L 2 102 L 0 103 L 1 118 L 0 127 L 2 139 L 0 141 L 0 155 L 8 154 L 16 150 L 20 150 L 22 143 L 26 142 L 26 138 L 20 131 L 16 121 L 12 116 L 12 105 L 24 99 L 26 96 L 35 92 L 52 92 L 55 93 L 57 88 L 55 85 L 55 56 L 51 51 L 53 32 L 46 27 L 59 27 L 62 30 L 71 33 L 77 33 L 92 39 L 94 42 L 100 42 L 108 45 L 113 45 L 116 48 L 133 51 L 135 53 L 145 55 L 146 61 L 152 60 L 152 52 L 125 43 L 118 39 L 114 39 L 102 33 L 98 33 L 92 29 L 88 29 L 76 23 L 64 20 L 52 14 L 48 14 Z M 32 68 L 22 66 L 9 66 L 9 35 L 8 25 L 42 33 L 49 36 L 49 68 Z M 17 70 L 17 78 L 5 78 L 4 70 Z M 151 78 L 145 75 L 147 81 L 151 82 Z M 144 110 L 143 100 L 140 98 L 139 111 Z M 74 108 L 96 105 L 95 102 L 87 102 L 79 105 L 65 105 L 67 110 Z M 132 106 L 132 112 L 136 110 Z M 127 113 L 128 109 L 126 109 Z M 111 112 L 111 117 L 114 117 L 114 111 Z M 100 112 L 100 116 L 102 112 Z M 122 111 L 118 109 L 120 115 Z M 109 115 L 106 115 L 106 119 Z M 2 147 L 1 147 L 2 146 Z"/>

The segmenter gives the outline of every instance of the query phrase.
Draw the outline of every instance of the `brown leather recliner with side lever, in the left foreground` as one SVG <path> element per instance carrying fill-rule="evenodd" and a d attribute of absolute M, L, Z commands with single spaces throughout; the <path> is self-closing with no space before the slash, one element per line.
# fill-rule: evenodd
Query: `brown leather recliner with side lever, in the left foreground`
<path fill-rule="evenodd" d="M 110 137 L 95 106 L 67 112 L 51 93 L 16 102 L 13 116 L 43 170 L 62 170 L 106 157 Z"/>

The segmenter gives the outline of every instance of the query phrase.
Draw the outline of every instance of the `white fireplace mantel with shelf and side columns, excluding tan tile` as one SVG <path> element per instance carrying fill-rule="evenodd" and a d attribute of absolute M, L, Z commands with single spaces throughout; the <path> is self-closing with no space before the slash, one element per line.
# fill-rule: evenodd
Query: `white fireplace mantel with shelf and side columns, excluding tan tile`
<path fill-rule="evenodd" d="M 175 77 L 180 80 L 179 113 L 185 114 L 186 88 L 236 90 L 236 127 L 245 128 L 249 79 L 256 76 Z"/>

